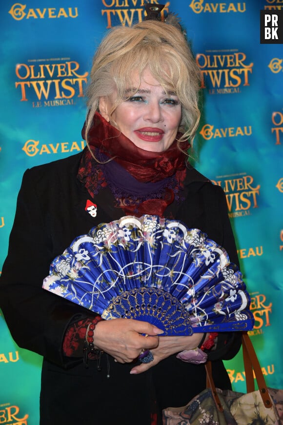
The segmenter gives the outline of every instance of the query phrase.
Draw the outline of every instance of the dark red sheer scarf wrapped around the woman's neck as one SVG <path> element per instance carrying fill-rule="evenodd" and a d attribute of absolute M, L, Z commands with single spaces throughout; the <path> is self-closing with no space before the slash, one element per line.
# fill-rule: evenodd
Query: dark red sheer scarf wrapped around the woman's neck
<path fill-rule="evenodd" d="M 181 135 L 179 134 L 178 136 L 180 137 Z M 82 137 L 85 139 L 85 125 L 82 129 Z M 180 151 L 176 140 L 165 152 L 143 150 L 131 142 L 117 128 L 104 120 L 99 113 L 96 113 L 87 135 L 87 141 L 96 158 L 98 157 L 98 153 L 104 158 L 105 156 L 114 158 L 114 161 L 122 167 L 121 169 L 133 176 L 138 182 L 146 183 L 148 189 L 156 186 L 158 184 L 157 182 L 162 183 L 164 181 L 166 183 L 166 179 L 168 180 L 168 177 L 172 177 L 177 187 L 172 188 L 172 179 L 170 179 L 170 184 L 163 189 L 162 197 L 159 197 L 159 199 L 154 197 L 155 199 L 146 199 L 140 202 L 137 197 L 122 197 L 117 199 L 116 196 L 119 206 L 121 206 L 125 214 L 163 215 L 167 205 L 174 201 L 174 193 L 176 194 L 180 191 L 182 181 L 185 177 L 186 155 Z M 188 142 L 182 142 L 181 144 L 183 150 L 188 149 L 189 146 Z M 92 196 L 94 196 L 94 193 L 98 193 L 96 190 L 98 187 L 109 185 L 111 188 L 111 182 L 107 182 L 105 172 L 103 173 L 103 165 L 100 166 L 97 163 L 94 172 L 94 163 L 95 160 L 92 158 L 92 155 L 86 150 L 78 173 L 79 180 L 85 183 L 86 188 Z M 119 171 L 117 172 L 119 174 Z M 117 175 L 117 186 L 119 186 L 121 178 L 124 179 L 124 177 L 124 172 L 120 176 Z M 131 187 L 128 190 L 131 193 Z M 112 190 L 112 192 L 115 192 L 114 195 L 116 195 L 115 190 Z"/>

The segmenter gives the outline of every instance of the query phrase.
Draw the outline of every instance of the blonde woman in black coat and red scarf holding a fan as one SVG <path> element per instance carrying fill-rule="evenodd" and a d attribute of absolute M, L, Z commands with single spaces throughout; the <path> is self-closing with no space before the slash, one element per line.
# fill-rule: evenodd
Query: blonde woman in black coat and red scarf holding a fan
<path fill-rule="evenodd" d="M 238 352 L 238 335 L 162 337 L 146 322 L 102 321 L 41 287 L 75 237 L 129 214 L 181 220 L 238 262 L 222 189 L 187 162 L 198 88 L 198 68 L 174 25 L 116 27 L 93 61 L 88 149 L 24 174 L 0 300 L 17 344 L 44 358 L 41 425 L 160 424 L 162 408 L 205 388 L 203 365 L 176 357 L 198 346 L 214 361 L 216 385 L 230 388 L 222 359 Z M 137 360 L 143 350 L 148 363 Z"/>

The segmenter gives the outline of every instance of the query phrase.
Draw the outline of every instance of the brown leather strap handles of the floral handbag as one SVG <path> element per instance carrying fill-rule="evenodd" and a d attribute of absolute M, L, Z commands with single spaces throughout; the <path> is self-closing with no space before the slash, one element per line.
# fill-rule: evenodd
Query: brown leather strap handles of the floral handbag
<path fill-rule="evenodd" d="M 255 390 L 255 381 L 254 381 L 254 373 L 255 373 L 259 391 L 263 399 L 263 404 L 265 407 L 270 408 L 272 407 L 272 402 L 267 390 L 267 386 L 265 384 L 262 368 L 260 366 L 255 349 L 253 347 L 253 344 L 247 332 L 243 332 L 242 344 L 243 344 L 243 363 L 244 363 L 244 370 L 245 370 L 247 393 L 253 392 Z M 218 397 L 215 384 L 212 378 L 212 366 L 210 361 L 208 361 L 205 364 L 205 370 L 206 370 L 206 386 L 207 388 L 211 389 L 211 393 L 214 398 L 215 405 L 218 408 L 218 410 L 222 412 L 223 407 L 221 405 L 221 402 Z"/>

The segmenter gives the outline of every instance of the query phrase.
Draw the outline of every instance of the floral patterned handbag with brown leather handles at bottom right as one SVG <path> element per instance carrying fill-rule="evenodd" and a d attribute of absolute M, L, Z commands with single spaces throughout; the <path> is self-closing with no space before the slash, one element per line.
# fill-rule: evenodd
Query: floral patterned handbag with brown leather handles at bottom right
<path fill-rule="evenodd" d="M 215 388 L 207 362 L 207 388 L 184 407 L 164 409 L 163 425 L 283 425 L 283 390 L 266 387 L 247 333 L 243 333 L 243 359 L 246 394 Z"/>

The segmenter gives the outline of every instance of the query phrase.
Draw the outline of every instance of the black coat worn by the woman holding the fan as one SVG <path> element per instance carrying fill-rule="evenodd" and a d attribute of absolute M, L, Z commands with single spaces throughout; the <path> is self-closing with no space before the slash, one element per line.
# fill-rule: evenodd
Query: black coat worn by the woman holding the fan
<path fill-rule="evenodd" d="M 183 363 L 174 355 L 145 373 L 130 375 L 132 364 L 114 363 L 103 354 L 101 371 L 96 361 L 89 362 L 86 368 L 82 359 L 64 357 L 61 347 L 67 326 L 89 316 L 89 312 L 41 288 L 50 263 L 75 237 L 101 222 L 108 223 L 124 215 L 114 206 L 109 189 L 102 189 L 92 200 L 77 180 L 81 155 L 25 172 L 0 279 L 0 306 L 16 343 L 44 358 L 41 425 L 147 425 L 150 400 L 155 396 L 161 410 L 185 405 L 205 388 L 204 367 Z M 185 201 L 173 202 L 167 207 L 165 217 L 206 232 L 237 263 L 222 189 L 190 168 L 185 192 Z M 97 204 L 95 218 L 85 211 L 88 199 Z M 218 387 L 230 387 L 220 359 L 232 358 L 239 346 L 238 335 L 219 336 L 217 349 L 210 354 L 215 360 L 213 370 Z M 110 378 L 106 377 L 108 366 Z"/>

